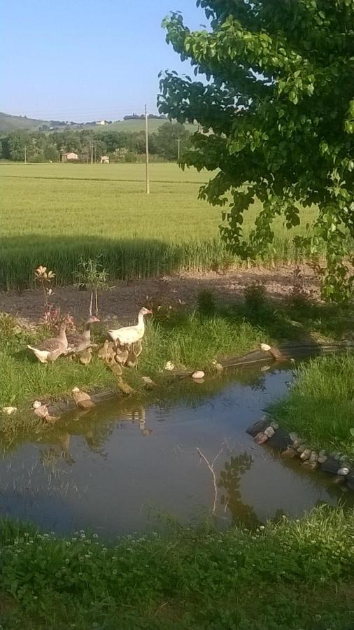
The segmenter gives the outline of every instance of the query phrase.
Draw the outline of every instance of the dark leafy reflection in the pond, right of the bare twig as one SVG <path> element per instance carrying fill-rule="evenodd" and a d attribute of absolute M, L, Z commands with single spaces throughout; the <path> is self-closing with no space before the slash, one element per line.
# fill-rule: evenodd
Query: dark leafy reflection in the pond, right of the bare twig
<path fill-rule="evenodd" d="M 220 496 L 220 504 L 231 513 L 234 524 L 246 524 L 247 526 L 257 526 L 260 524 L 253 507 L 243 503 L 241 498 L 240 483 L 242 475 L 250 470 L 253 463 L 252 457 L 246 453 L 231 456 L 225 462 L 224 470 L 220 472 L 218 488 L 225 492 Z"/>

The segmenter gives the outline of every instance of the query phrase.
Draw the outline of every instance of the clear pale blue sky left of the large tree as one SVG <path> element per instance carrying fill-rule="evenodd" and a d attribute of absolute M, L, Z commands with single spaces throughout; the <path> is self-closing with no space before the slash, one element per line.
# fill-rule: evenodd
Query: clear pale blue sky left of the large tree
<path fill-rule="evenodd" d="M 0 0 L 0 111 L 45 120 L 120 120 L 156 113 L 160 70 L 190 71 L 161 22 L 195 0 Z"/>

